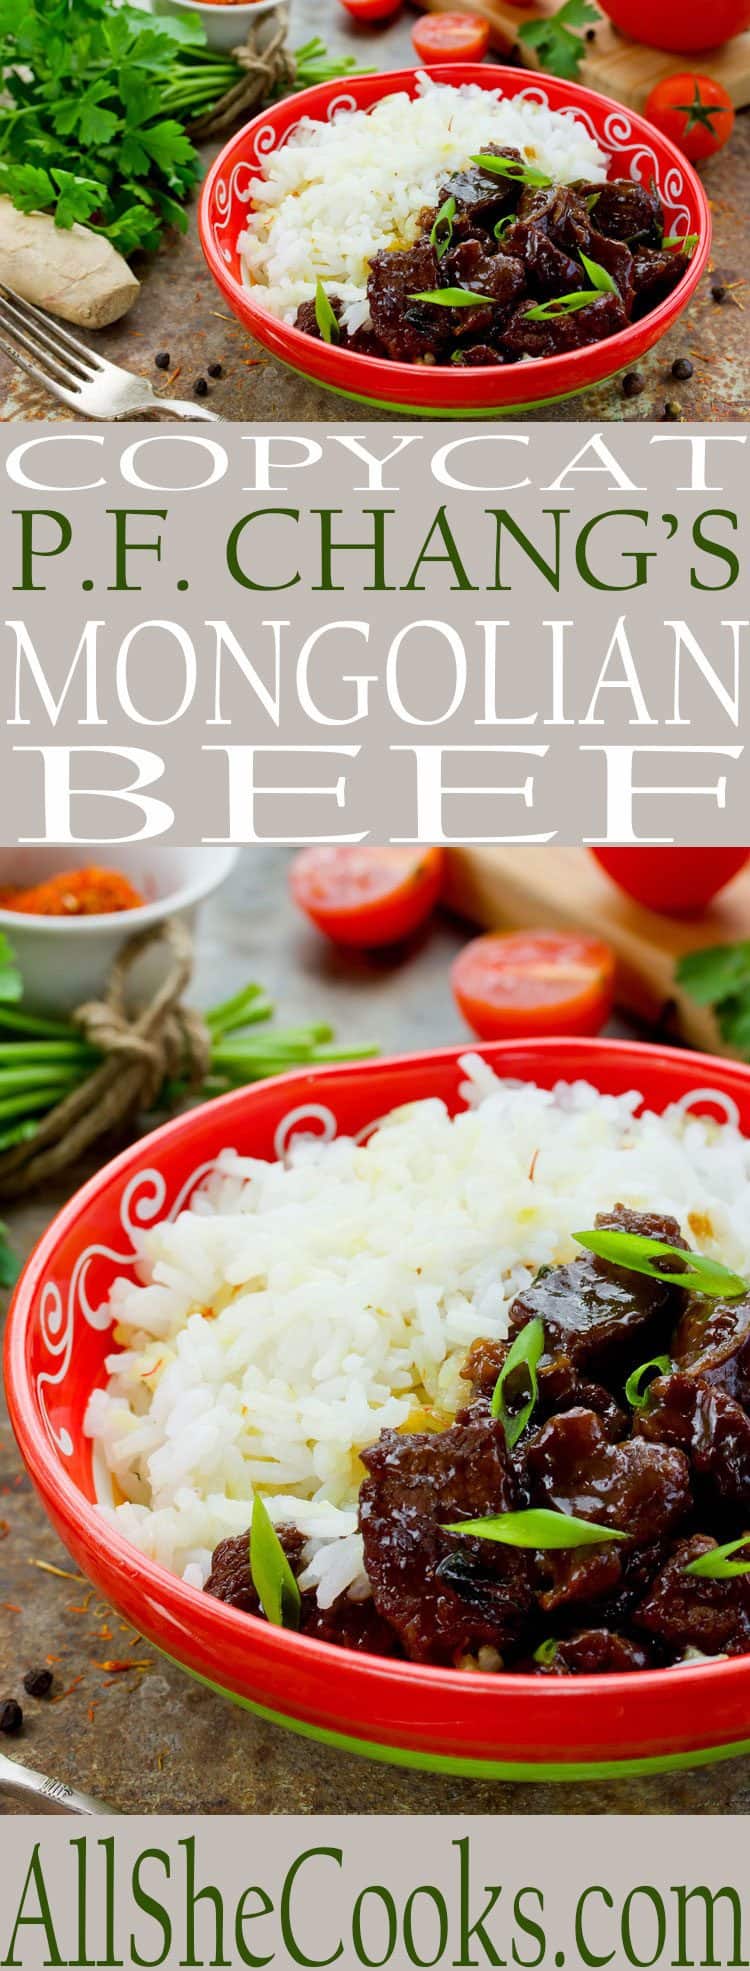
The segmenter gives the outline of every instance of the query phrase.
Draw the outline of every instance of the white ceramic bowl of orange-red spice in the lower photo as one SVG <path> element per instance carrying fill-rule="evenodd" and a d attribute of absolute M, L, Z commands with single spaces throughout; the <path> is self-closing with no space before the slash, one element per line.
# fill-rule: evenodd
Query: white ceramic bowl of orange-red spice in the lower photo
<path fill-rule="evenodd" d="M 0 909 L 0 930 L 10 940 L 24 974 L 24 1001 L 35 1011 L 69 1013 L 83 999 L 96 999 L 126 938 L 165 917 L 193 924 L 197 905 L 228 877 L 238 850 L 175 850 L 154 844 L 116 848 L 0 848 L 0 887 L 43 883 L 61 869 L 98 863 L 120 869 L 148 901 L 136 911 L 104 917 L 26 917 Z M 163 976 L 167 952 L 156 950 L 138 968 L 140 991 Z"/>

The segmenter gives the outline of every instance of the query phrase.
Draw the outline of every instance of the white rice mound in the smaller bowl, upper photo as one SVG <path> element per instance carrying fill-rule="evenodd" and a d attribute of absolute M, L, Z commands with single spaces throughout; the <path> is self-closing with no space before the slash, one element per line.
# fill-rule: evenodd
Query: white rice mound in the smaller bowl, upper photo
<path fill-rule="evenodd" d="M 486 144 L 516 146 L 561 185 L 606 177 L 606 154 L 573 110 L 421 75 L 413 101 L 400 91 L 325 124 L 305 116 L 270 154 L 248 187 L 254 211 L 240 238 L 254 300 L 293 321 L 321 280 L 348 304 L 346 325 L 362 327 L 372 254 L 411 244 L 445 177 Z"/>

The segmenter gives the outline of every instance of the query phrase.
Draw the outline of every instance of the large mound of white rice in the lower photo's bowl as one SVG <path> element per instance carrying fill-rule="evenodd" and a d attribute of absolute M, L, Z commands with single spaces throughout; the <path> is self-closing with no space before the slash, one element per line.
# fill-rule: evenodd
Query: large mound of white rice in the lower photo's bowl
<path fill-rule="evenodd" d="M 144 1285 L 116 1281 L 118 1348 L 87 1431 L 126 1504 L 102 1510 L 197 1587 L 258 1486 L 276 1524 L 307 1533 L 323 1606 L 366 1593 L 358 1453 L 386 1425 L 455 1413 L 470 1342 L 508 1332 L 520 1287 L 573 1257 L 594 1212 L 673 1212 L 695 1248 L 750 1271 L 750 1143 L 732 1123 L 636 1116 L 638 1094 L 585 1082 L 502 1082 L 474 1054 L 463 1068 L 455 1120 L 429 1100 L 366 1147 L 297 1139 L 285 1163 L 224 1149 L 191 1208 L 144 1234 Z"/>

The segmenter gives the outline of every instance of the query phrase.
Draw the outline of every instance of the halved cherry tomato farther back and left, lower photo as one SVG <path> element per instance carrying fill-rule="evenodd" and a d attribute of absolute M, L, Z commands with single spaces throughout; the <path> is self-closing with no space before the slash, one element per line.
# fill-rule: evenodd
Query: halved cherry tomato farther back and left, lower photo
<path fill-rule="evenodd" d="M 311 848 L 291 865 L 291 895 L 337 944 L 398 944 L 435 909 L 443 850 Z"/>

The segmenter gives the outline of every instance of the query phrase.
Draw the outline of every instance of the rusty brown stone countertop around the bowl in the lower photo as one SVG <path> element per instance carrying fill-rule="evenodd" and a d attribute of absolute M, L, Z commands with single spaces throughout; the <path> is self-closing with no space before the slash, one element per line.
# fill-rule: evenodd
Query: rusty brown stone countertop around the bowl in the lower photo
<path fill-rule="evenodd" d="M 281 850 L 248 850 L 207 907 L 195 1001 L 217 1001 L 260 978 L 285 1023 L 309 1021 L 319 1009 L 339 1037 L 378 1041 L 384 1053 L 461 1041 L 449 962 L 463 926 L 437 918 L 400 960 L 344 956 L 291 909 L 285 861 Z M 6 1208 L 18 1252 L 30 1252 L 67 1190 Z M 53 1697 L 33 1701 L 24 1695 L 22 1677 L 47 1658 Z M 106 1669 L 112 1662 L 144 1667 Z M 89 1591 L 45 1520 L 2 1415 L 0 1697 L 6 1695 L 22 1699 L 26 1723 L 18 1738 L 2 1740 L 2 1750 L 106 1798 L 124 1813 L 750 1811 L 750 1760 L 618 1784 L 500 1786 L 374 1766 L 256 1721 L 163 1662 Z"/>

